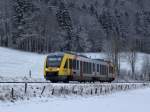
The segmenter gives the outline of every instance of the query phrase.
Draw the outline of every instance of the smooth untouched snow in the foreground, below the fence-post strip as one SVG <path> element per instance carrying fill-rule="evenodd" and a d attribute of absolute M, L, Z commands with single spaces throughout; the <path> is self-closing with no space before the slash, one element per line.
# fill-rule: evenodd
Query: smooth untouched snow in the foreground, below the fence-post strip
<path fill-rule="evenodd" d="M 150 88 L 93 97 L 35 98 L 0 103 L 0 112 L 149 112 Z"/>

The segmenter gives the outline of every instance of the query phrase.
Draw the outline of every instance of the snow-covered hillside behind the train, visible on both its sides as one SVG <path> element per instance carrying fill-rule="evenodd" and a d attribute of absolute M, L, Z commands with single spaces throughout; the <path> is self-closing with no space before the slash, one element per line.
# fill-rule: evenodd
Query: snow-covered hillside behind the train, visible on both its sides
<path fill-rule="evenodd" d="M 95 59 L 107 59 L 104 53 L 84 53 Z M 137 72 L 140 72 L 145 54 L 138 53 L 136 64 Z M 29 77 L 29 71 L 33 78 L 43 79 L 43 65 L 45 55 L 28 53 L 0 47 L 0 76 L 2 77 Z M 122 54 L 121 69 L 130 71 L 130 65 Z"/>

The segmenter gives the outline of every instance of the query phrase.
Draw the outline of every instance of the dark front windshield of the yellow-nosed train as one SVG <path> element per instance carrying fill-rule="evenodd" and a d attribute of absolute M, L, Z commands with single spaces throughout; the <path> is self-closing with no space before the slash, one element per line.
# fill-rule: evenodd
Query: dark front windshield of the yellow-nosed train
<path fill-rule="evenodd" d="M 62 56 L 48 56 L 47 67 L 60 67 Z"/>

